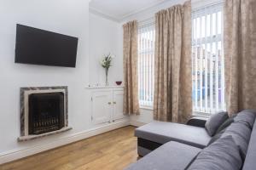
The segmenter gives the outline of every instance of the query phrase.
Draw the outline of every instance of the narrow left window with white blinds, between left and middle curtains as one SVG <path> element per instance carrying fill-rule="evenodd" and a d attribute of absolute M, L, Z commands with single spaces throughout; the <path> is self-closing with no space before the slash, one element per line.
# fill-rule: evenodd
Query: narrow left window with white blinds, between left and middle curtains
<path fill-rule="evenodd" d="M 152 107 L 154 99 L 154 22 L 138 29 L 138 94 L 141 107 Z"/>

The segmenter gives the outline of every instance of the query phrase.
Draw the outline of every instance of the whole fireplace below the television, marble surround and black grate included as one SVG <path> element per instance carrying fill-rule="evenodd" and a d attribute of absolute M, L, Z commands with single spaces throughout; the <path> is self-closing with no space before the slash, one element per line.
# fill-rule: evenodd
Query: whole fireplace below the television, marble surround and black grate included
<path fill-rule="evenodd" d="M 20 88 L 19 141 L 66 132 L 67 87 Z"/>

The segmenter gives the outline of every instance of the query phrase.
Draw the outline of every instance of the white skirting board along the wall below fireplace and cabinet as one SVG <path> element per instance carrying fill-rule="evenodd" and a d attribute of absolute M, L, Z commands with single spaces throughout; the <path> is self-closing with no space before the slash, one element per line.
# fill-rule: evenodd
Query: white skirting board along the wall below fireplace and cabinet
<path fill-rule="evenodd" d="M 95 136 L 95 135 L 101 134 L 101 133 L 106 133 L 106 132 L 114 130 L 116 128 L 125 127 L 128 125 L 131 125 L 130 121 L 116 122 L 111 125 L 106 125 L 103 127 L 96 127 L 96 128 L 92 128 L 90 130 L 87 130 L 87 131 L 84 131 L 81 133 L 76 133 L 76 134 L 73 134 L 72 136 L 69 136 L 64 139 L 55 140 L 49 144 L 40 144 L 37 146 L 33 146 L 31 148 L 27 148 L 25 150 L 9 151 L 9 152 L 6 152 L 6 153 L 3 153 L 0 155 L 0 165 L 3 163 L 9 162 L 9 161 L 18 160 L 18 159 L 26 157 L 26 156 L 32 156 L 34 154 L 37 154 L 37 153 L 45 151 L 45 150 L 54 149 L 61 145 L 70 144 L 70 143 L 79 141 L 81 139 L 87 139 L 91 136 Z M 133 126 L 136 126 L 136 125 L 133 125 Z"/>

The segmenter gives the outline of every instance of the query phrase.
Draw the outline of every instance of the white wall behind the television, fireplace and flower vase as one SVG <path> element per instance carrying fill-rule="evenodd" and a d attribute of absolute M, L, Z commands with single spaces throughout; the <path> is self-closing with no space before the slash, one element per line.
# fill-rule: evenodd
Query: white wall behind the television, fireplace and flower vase
<path fill-rule="evenodd" d="M 121 31 L 112 21 L 101 20 L 93 15 L 90 15 L 90 19 L 91 26 L 89 0 L 0 1 L 0 157 L 40 144 L 61 141 L 95 127 L 90 122 L 90 98 L 85 86 L 90 79 L 101 80 L 101 77 L 94 80 L 102 72 L 95 73 L 97 69 L 92 68 L 98 62 L 93 60 L 98 55 L 107 52 L 116 54 L 119 57 L 115 60 L 118 65 L 113 70 L 121 70 L 121 54 L 116 49 L 119 40 L 113 34 L 119 35 Z M 79 37 L 76 68 L 15 64 L 16 24 Z M 90 36 L 89 26 L 92 32 Z M 108 35 L 104 37 L 106 32 Z M 95 38 L 91 38 L 92 35 Z M 89 40 L 92 41 L 90 46 Z M 90 59 L 89 51 L 93 59 Z M 110 75 L 112 82 L 122 79 L 122 74 L 115 75 L 112 70 Z M 69 126 L 73 130 L 17 142 L 20 136 L 20 87 L 42 86 L 68 86 Z"/>

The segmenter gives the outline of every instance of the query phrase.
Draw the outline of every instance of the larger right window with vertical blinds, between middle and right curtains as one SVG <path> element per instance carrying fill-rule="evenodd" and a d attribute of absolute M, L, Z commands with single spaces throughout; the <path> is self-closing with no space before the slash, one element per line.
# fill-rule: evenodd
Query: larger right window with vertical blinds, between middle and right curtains
<path fill-rule="evenodd" d="M 218 33 L 218 13 L 221 12 L 220 14 L 220 21 L 219 23 L 221 24 L 221 28 L 220 28 L 220 33 Z M 215 14 L 215 35 L 213 34 L 213 14 Z M 208 15 L 210 17 L 210 22 L 208 22 Z M 203 30 L 204 31 L 204 37 L 202 37 L 202 33 L 200 32 L 200 37 L 198 37 L 198 33 L 196 31 L 198 31 L 198 28 L 197 30 L 195 29 L 195 25 L 198 26 L 198 23 L 197 23 L 197 20 L 198 18 L 200 19 L 200 23 L 199 23 L 199 27 L 200 27 L 200 31 Z M 204 18 L 204 24 L 205 26 L 203 27 L 203 24 L 202 24 L 202 20 Z M 194 116 L 211 116 L 213 113 L 217 112 L 217 111 L 225 111 L 226 110 L 226 104 L 225 104 L 225 96 L 224 96 L 224 48 L 223 48 L 223 40 L 224 40 L 224 29 L 223 29 L 223 26 L 224 26 L 224 3 L 222 1 L 219 1 L 218 3 L 214 3 L 214 4 L 211 4 L 211 5 L 207 5 L 207 6 L 204 6 L 204 7 L 201 7 L 201 8 L 195 8 L 195 9 L 192 9 L 192 16 L 191 16 L 191 24 L 192 24 L 192 35 L 191 35 L 191 48 L 192 48 L 192 51 L 191 51 L 191 59 L 192 59 L 192 103 L 193 103 L 193 115 Z M 210 25 L 207 27 L 207 24 Z M 212 27 L 212 28 L 210 28 Z M 204 28 L 204 29 L 202 29 Z M 210 29 L 210 31 L 208 32 L 207 29 Z M 215 43 L 215 55 L 213 53 L 213 50 L 212 50 L 212 44 Z M 220 51 L 218 51 L 218 43 L 220 43 Z M 203 46 L 204 45 L 204 46 Z M 209 56 L 208 54 L 208 45 L 210 45 L 211 49 L 211 53 L 210 53 L 210 59 L 209 57 L 207 57 L 206 59 L 206 56 Z M 204 47 L 204 49 L 203 49 Z M 199 48 L 199 49 L 198 49 Z M 199 54 L 198 54 L 199 53 Z M 197 57 L 195 57 L 197 56 Z M 199 57 L 198 57 L 199 56 Z M 213 61 L 213 56 L 215 57 L 215 63 L 216 61 L 218 61 L 218 65 L 215 65 L 212 67 L 212 62 Z M 218 57 L 216 57 L 218 56 Z M 219 59 L 220 57 L 220 59 Z M 194 58 L 195 58 L 195 61 L 194 61 Z M 198 70 L 198 59 L 200 60 L 200 70 Z M 202 60 L 204 60 L 204 66 L 202 64 Z M 208 61 L 209 60 L 209 61 Z M 208 68 L 208 64 L 210 62 L 210 66 L 211 68 Z M 221 65 L 219 64 L 221 62 Z M 206 66 L 207 65 L 207 66 Z M 220 66 L 220 67 L 219 67 Z M 195 69 L 195 67 L 197 67 Z M 211 70 L 212 69 L 212 70 Z M 209 71 L 208 71 L 209 70 Z M 213 75 L 212 71 L 215 72 L 215 75 Z M 221 80 L 219 81 L 219 71 L 220 71 L 220 77 L 221 77 Z M 197 74 L 196 74 L 197 72 Z M 199 72 L 199 73 L 198 73 Z M 206 74 L 207 73 L 207 74 Z M 208 74 L 210 74 L 210 78 L 213 79 L 213 77 L 215 78 L 214 79 L 214 82 L 213 80 L 211 80 L 210 82 L 210 86 L 208 81 Z M 207 76 L 206 76 L 207 75 Z M 218 75 L 218 76 L 217 76 Z M 194 76 L 195 76 L 195 80 L 194 80 Z M 200 78 L 198 79 L 198 77 L 200 76 Z M 218 80 L 218 81 L 216 81 Z M 194 84 L 194 81 L 195 81 L 195 84 Z M 198 82 L 200 82 L 200 88 L 198 88 Z M 218 83 L 218 88 L 216 89 L 216 86 L 215 86 L 215 83 Z M 220 85 L 219 85 L 220 84 Z M 212 88 L 211 88 L 211 85 L 212 85 Z M 195 87 L 194 87 L 195 86 Z M 197 88 L 196 88 L 197 87 Z M 206 87 L 207 87 L 207 90 L 206 90 Z M 213 88 L 214 87 L 214 88 Z M 220 89 L 219 89 L 220 88 Z M 210 89 L 210 93 L 208 93 L 208 90 Z M 198 90 L 200 90 L 200 93 L 198 92 Z M 212 91 L 213 92 L 212 92 Z M 220 90 L 220 93 L 219 93 L 219 90 Z M 215 96 L 213 96 L 213 93 L 216 93 Z M 200 94 L 200 105 L 198 105 L 198 94 Z M 210 96 L 210 108 L 208 106 L 208 101 L 207 101 L 207 98 L 208 97 L 204 97 L 205 98 L 205 104 L 204 104 L 204 108 L 203 108 L 203 105 L 202 105 L 202 95 L 211 95 Z M 217 100 L 218 100 L 218 103 L 219 103 L 219 94 L 220 94 L 220 100 L 221 100 L 221 103 L 220 103 L 220 106 L 218 106 L 219 104 L 217 104 Z M 208 96 L 208 95 L 207 95 Z M 218 97 L 217 97 L 218 96 Z M 213 101 L 212 101 L 212 98 L 215 98 L 215 106 L 213 107 Z M 195 98 L 195 99 L 194 99 Z"/>

